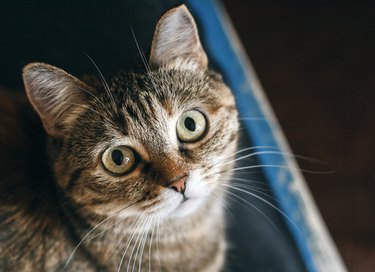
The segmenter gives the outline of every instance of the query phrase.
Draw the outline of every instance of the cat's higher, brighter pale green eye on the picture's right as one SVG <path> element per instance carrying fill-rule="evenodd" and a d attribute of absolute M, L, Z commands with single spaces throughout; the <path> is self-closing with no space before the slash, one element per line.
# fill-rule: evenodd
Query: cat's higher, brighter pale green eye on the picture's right
<path fill-rule="evenodd" d="M 200 140 L 206 132 L 207 121 L 197 110 L 184 112 L 177 121 L 177 137 L 181 142 L 195 142 Z"/>

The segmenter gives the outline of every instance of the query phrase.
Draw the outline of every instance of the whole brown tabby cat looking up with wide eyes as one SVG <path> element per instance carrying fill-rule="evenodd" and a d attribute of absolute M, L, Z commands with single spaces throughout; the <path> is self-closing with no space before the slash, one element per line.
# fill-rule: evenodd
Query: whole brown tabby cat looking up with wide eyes
<path fill-rule="evenodd" d="M 102 79 L 31 63 L 32 107 L 0 102 L 0 270 L 224 270 L 238 113 L 188 9 L 161 17 L 144 72 Z"/>

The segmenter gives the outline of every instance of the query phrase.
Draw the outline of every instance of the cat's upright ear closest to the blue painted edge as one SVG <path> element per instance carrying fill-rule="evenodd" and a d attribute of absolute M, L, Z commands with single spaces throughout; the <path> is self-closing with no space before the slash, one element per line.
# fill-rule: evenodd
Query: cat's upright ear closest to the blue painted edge
<path fill-rule="evenodd" d="M 157 68 L 178 58 L 207 69 L 207 55 L 199 40 L 195 21 L 185 5 L 169 10 L 159 20 L 152 40 L 150 66 Z"/>

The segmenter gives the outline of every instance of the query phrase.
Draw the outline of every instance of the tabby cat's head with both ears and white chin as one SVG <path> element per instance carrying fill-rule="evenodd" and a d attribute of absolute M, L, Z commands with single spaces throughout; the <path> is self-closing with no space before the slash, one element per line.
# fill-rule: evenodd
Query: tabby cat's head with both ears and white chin
<path fill-rule="evenodd" d="M 146 70 L 94 89 L 47 64 L 24 68 L 57 186 L 82 214 L 184 216 L 221 195 L 237 111 L 185 6 L 158 22 Z"/>

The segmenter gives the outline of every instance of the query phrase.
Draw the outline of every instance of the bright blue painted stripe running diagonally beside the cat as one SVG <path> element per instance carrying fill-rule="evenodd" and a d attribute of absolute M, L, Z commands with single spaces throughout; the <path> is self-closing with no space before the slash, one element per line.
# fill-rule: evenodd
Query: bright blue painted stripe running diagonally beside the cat
<path fill-rule="evenodd" d="M 188 7 L 198 18 L 202 28 L 205 47 L 211 59 L 217 63 L 223 72 L 228 85 L 233 90 L 240 117 L 244 120 L 248 135 L 255 146 L 272 146 L 280 149 L 276 141 L 271 121 L 267 120 L 260 102 L 254 95 L 247 67 L 242 61 L 245 56 L 236 51 L 227 33 L 225 22 L 216 0 L 187 0 Z M 252 118 L 257 120 L 251 120 Z M 265 165 L 286 166 L 286 158 L 282 155 L 259 155 L 260 163 Z M 309 248 L 308 239 L 310 228 L 301 214 L 301 200 L 289 190 L 293 176 L 287 167 L 265 167 L 264 174 L 276 198 L 280 201 L 281 210 L 298 226 L 299 230 L 286 220 L 308 271 L 317 271 L 314 263 L 314 253 Z M 285 219 L 285 218 L 284 218 Z"/>

